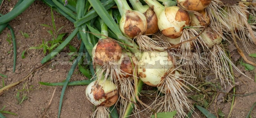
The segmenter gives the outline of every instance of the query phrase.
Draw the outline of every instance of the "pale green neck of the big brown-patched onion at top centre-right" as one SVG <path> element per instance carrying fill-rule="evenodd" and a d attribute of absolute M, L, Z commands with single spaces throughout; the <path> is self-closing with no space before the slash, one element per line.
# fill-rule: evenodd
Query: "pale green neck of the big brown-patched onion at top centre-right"
<path fill-rule="evenodd" d="M 154 10 L 157 16 L 159 16 L 160 13 L 165 9 L 164 6 L 159 2 L 157 2 L 156 0 L 144 0 L 144 1 L 149 5 L 149 7 L 151 7 L 151 9 Z"/>

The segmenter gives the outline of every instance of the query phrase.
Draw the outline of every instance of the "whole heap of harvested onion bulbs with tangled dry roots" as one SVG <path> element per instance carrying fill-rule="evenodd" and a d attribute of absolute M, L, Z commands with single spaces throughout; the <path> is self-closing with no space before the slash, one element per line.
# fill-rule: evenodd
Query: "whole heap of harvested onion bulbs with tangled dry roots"
<path fill-rule="evenodd" d="M 174 117 L 186 117 L 194 111 L 186 92 L 199 91 L 193 84 L 202 73 L 213 72 L 223 87 L 232 85 L 232 67 L 246 76 L 230 60 L 223 43 L 232 37 L 238 52 L 252 64 L 236 40 L 245 48 L 250 42 L 256 44 L 256 27 L 247 22 L 251 14 L 247 9 L 255 11 L 252 2 L 177 0 L 177 6 L 163 6 L 156 0 L 144 0 L 145 5 L 139 0 L 114 1 L 121 16 L 120 31 L 133 39 L 133 45 L 104 37 L 94 46 L 97 77 L 86 90 L 89 101 L 98 107 L 92 117 L 107 117 L 112 105 L 119 107 L 120 117 L 129 116 L 133 108 L 138 115 L 142 109 L 136 101 L 153 115 L 176 111 Z M 151 104 L 139 100 L 140 81 L 156 88 Z"/>

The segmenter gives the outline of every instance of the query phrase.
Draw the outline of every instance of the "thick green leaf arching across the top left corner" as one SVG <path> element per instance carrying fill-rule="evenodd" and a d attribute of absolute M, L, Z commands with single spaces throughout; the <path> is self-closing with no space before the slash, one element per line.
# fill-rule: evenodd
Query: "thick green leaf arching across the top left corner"
<path fill-rule="evenodd" d="M 6 22 L 13 20 L 15 17 L 17 17 L 19 14 L 21 14 L 23 11 L 25 11 L 34 1 L 35 0 L 22 1 L 12 11 L 10 11 L 9 13 L 4 14 L 3 16 L 0 17 L 0 24 L 4 24 Z"/>

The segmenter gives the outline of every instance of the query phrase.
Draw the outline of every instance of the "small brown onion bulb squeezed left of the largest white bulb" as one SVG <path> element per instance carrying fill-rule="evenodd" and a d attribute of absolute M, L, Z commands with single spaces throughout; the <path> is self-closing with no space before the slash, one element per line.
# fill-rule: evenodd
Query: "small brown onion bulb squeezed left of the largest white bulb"
<path fill-rule="evenodd" d="M 133 63 L 131 62 L 130 57 L 131 57 Z M 117 62 L 117 64 L 118 64 L 118 67 L 120 68 L 120 70 L 123 73 L 125 73 L 125 76 L 119 75 L 120 77 L 125 77 L 125 78 L 132 77 L 133 73 L 134 73 L 134 67 L 137 64 L 137 58 L 134 55 L 132 55 L 131 53 L 128 54 L 126 52 L 123 52 L 122 56 L 119 59 L 119 61 Z M 118 77 L 117 77 L 117 79 L 118 79 Z"/>

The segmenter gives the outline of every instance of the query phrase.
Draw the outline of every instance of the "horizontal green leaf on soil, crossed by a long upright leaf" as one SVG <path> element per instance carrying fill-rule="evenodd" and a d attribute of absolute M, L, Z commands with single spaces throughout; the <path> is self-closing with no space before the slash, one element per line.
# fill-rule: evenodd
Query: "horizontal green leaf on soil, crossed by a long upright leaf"
<path fill-rule="evenodd" d="M 91 82 L 93 82 L 93 80 L 73 81 L 73 82 L 68 82 L 68 86 L 88 85 Z M 39 82 L 39 84 L 42 84 L 45 86 L 63 86 L 65 82 L 58 82 L 58 83 Z"/>

